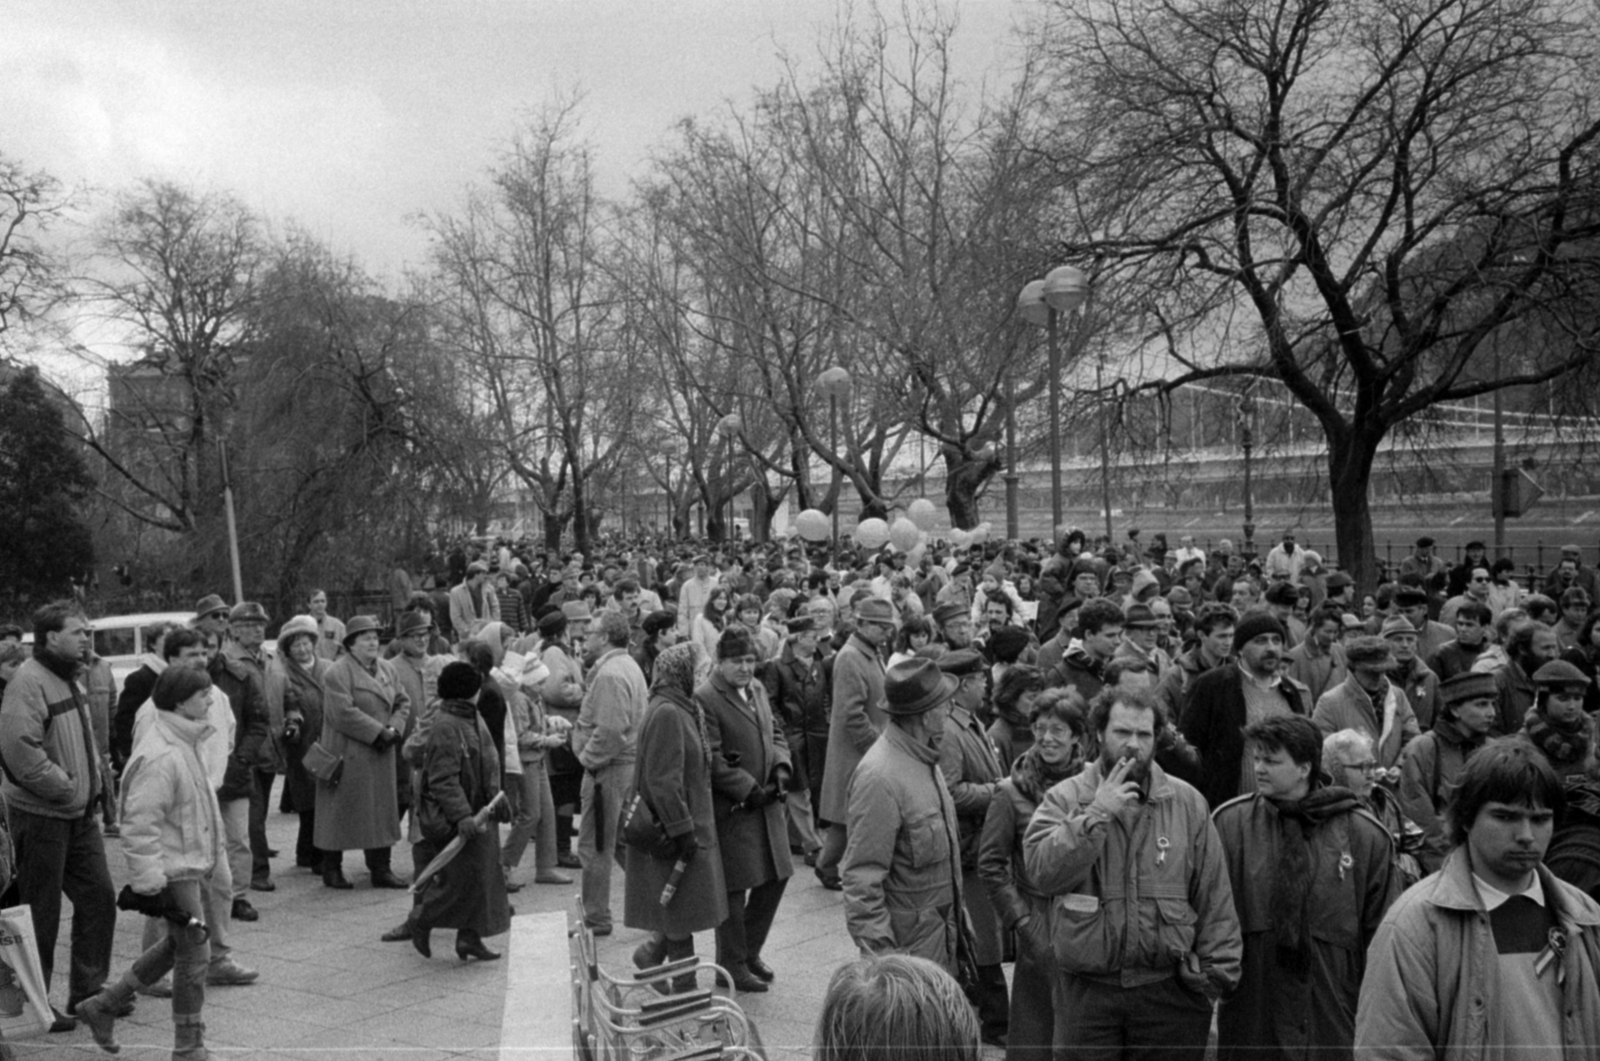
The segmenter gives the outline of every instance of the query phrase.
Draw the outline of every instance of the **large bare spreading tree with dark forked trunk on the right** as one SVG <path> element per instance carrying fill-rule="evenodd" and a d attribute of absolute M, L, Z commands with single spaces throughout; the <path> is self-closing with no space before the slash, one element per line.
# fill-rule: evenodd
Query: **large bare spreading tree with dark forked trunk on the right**
<path fill-rule="evenodd" d="M 1600 360 L 1584 5 L 1054 0 L 1030 43 L 1061 253 L 1144 294 L 1131 386 L 1280 379 L 1326 437 L 1358 583 L 1395 426 Z M 1518 354 L 1486 365 L 1496 334 Z"/>

